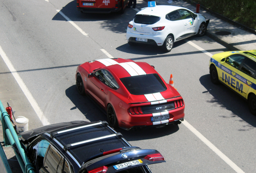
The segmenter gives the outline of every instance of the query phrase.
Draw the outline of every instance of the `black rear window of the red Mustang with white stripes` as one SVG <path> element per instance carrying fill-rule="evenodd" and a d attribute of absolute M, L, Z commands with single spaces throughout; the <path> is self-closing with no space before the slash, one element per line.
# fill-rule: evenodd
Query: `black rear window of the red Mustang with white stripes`
<path fill-rule="evenodd" d="M 130 76 L 120 80 L 132 95 L 159 93 L 167 89 L 158 74 Z"/>

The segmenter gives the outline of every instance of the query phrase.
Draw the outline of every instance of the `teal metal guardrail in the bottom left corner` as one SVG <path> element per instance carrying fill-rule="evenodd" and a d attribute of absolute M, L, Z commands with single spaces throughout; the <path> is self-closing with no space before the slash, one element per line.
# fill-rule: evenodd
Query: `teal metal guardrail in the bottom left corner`
<path fill-rule="evenodd" d="M 32 163 L 29 162 L 29 159 L 25 153 L 25 149 L 23 148 L 23 145 L 19 141 L 19 137 L 12 126 L 10 117 L 8 113 L 5 111 L 1 100 L 0 100 L 0 112 L 1 112 L 0 120 L 2 123 L 3 136 L 4 136 L 4 145 L 6 147 L 10 145 L 12 146 L 23 173 L 35 173 L 35 169 Z M 2 155 L 1 155 L 1 158 L 2 158 Z"/>

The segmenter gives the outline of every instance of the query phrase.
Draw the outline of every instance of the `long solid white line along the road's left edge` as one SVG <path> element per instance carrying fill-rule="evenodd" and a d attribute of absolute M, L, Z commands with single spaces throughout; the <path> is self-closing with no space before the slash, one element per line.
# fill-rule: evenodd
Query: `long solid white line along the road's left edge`
<path fill-rule="evenodd" d="M 35 101 L 33 96 L 31 95 L 29 89 L 27 89 L 27 86 L 25 85 L 25 83 L 21 79 L 21 76 L 18 74 L 18 72 L 16 71 L 16 69 L 12 65 L 12 62 L 10 62 L 9 58 L 7 57 L 7 55 L 5 54 L 5 52 L 4 52 L 4 50 L 2 49 L 1 46 L 0 46 L 0 55 L 2 56 L 5 64 L 9 68 L 10 72 L 14 76 L 15 80 L 17 81 L 17 83 L 21 87 L 21 90 L 23 91 L 23 93 L 27 97 L 29 103 L 31 104 L 31 106 L 35 110 L 35 113 L 37 114 L 37 117 L 40 119 L 42 124 L 43 125 L 50 125 L 50 123 L 47 120 L 47 118 L 43 115 L 43 111 L 40 109 L 39 105 L 37 104 L 37 102 Z"/>

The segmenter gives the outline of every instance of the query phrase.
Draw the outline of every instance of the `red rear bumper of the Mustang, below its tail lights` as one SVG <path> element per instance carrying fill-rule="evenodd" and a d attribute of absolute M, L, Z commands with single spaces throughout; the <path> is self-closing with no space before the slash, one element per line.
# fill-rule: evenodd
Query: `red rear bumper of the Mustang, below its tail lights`
<path fill-rule="evenodd" d="M 119 123 L 120 128 L 125 129 L 125 130 L 130 130 L 134 127 L 147 127 L 147 126 L 156 127 L 156 126 L 163 126 L 163 125 L 168 125 L 168 124 L 179 124 L 180 121 L 184 120 L 184 115 L 185 115 L 184 108 L 185 108 L 185 106 L 182 106 L 178 109 L 169 111 L 170 118 L 167 120 L 151 122 L 152 114 L 129 115 L 129 116 L 126 115 L 126 118 L 128 117 L 128 120 L 122 119 L 118 123 Z"/>

